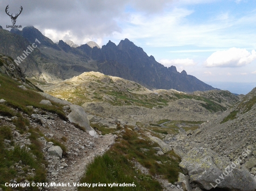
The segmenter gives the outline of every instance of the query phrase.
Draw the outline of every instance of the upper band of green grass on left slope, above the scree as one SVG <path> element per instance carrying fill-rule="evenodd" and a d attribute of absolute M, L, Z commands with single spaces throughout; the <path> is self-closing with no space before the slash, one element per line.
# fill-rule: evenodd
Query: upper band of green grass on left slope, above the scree
<path fill-rule="evenodd" d="M 14 81 L 10 77 L 0 75 L 0 84 L 1 99 L 7 101 L 7 106 L 10 105 L 14 108 L 19 108 L 28 115 L 31 115 L 33 111 L 26 106 L 32 105 L 34 108 L 41 108 L 59 115 L 62 119 L 65 118 L 65 113 L 61 105 L 54 102 L 52 102 L 53 106 L 40 104 L 39 102 L 45 99 L 43 96 L 40 96 L 36 92 L 29 89 L 23 90 L 18 88 L 18 85 L 21 84 Z M 9 113 L 9 115 L 13 115 L 13 112 L 8 111 L 7 107 L 3 105 L 0 106 L 0 113 Z"/>

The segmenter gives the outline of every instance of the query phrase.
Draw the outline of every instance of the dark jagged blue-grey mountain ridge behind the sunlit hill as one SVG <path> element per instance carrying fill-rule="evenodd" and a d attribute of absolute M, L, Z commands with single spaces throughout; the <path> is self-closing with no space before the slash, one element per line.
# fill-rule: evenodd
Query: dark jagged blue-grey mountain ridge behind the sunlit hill
<path fill-rule="evenodd" d="M 22 31 L 11 32 L 0 29 L 0 52 L 16 59 L 27 50 L 27 46 L 37 43 L 38 49 L 20 63 L 29 78 L 47 83 L 57 83 L 87 71 L 99 71 L 105 75 L 132 80 L 149 89 L 176 89 L 179 91 L 205 91 L 215 89 L 196 77 L 181 73 L 175 66 L 169 68 L 148 57 L 142 48 L 127 38 L 119 45 L 109 41 L 100 49 L 92 42 L 74 48 L 71 42 L 60 40 L 58 45 L 42 35 L 33 26 Z M 73 47 L 71 47 L 71 46 Z M 93 48 L 92 48 L 93 47 Z"/>

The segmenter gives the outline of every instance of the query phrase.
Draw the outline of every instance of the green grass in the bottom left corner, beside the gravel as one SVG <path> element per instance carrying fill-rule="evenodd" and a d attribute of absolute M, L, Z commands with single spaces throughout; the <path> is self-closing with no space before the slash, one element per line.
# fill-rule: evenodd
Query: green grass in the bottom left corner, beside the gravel
<path fill-rule="evenodd" d="M 6 182 L 16 178 L 19 183 L 22 180 L 29 180 L 34 182 L 45 182 L 46 171 L 41 164 L 47 164 L 43 159 L 43 154 L 40 151 L 41 143 L 38 138 L 38 134 L 34 131 L 30 131 L 31 135 L 28 137 L 31 140 L 31 144 L 28 146 L 30 151 L 26 148 L 20 148 L 20 145 L 11 142 L 13 149 L 7 149 L 4 140 L 12 140 L 12 131 L 8 126 L 0 127 L 0 187 L 9 191 L 10 188 L 3 186 Z M 33 156 L 34 155 L 34 156 Z M 19 161 L 22 161 L 20 164 Z M 21 166 L 21 170 L 15 166 Z M 31 169 L 35 169 L 33 173 L 34 177 L 27 176 L 27 172 Z M 22 179 L 25 177 L 25 179 Z M 17 188 L 18 190 L 25 190 L 24 188 Z M 27 190 L 36 191 L 37 187 L 30 187 Z"/>

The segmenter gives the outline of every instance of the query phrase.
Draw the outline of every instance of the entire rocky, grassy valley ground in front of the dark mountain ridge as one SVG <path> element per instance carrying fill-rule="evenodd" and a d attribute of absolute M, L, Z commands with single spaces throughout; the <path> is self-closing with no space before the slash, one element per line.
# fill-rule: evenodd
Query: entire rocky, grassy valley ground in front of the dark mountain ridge
<path fill-rule="evenodd" d="M 223 90 L 152 91 L 85 72 L 57 84 L 34 82 L 39 89 L 19 68 L 8 69 L 10 57 L 0 55 L 0 64 L 0 159 L 9 159 L 2 165 L 14 174 L 1 181 L 124 176 L 137 190 L 256 190 L 256 88 L 241 99 Z"/>

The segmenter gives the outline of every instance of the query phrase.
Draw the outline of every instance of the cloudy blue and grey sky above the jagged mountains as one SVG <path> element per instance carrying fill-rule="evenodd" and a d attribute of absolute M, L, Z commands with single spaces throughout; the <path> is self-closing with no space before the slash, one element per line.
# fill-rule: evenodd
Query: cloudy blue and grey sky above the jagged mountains
<path fill-rule="evenodd" d="M 256 82 L 256 0 L 0 0 L 0 25 L 33 25 L 54 42 L 128 38 L 204 82 Z"/>

